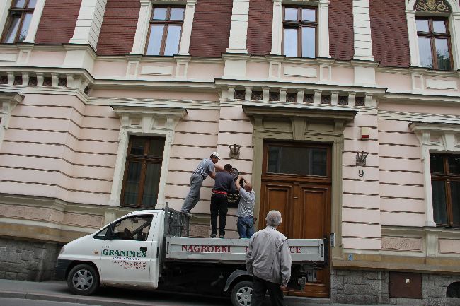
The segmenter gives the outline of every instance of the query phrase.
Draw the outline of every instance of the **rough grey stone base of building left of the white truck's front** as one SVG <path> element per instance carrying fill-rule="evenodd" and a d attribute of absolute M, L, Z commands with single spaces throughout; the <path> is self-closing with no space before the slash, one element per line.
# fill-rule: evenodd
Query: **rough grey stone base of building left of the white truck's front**
<path fill-rule="evenodd" d="M 55 242 L 0 238 L 0 278 L 18 281 L 53 279 L 61 247 Z"/>

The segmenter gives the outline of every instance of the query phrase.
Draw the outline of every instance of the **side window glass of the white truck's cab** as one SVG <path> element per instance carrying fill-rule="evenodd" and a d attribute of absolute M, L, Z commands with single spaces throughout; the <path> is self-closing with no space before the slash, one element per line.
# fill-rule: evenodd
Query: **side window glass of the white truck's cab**
<path fill-rule="evenodd" d="M 152 216 L 132 216 L 113 224 L 112 239 L 146 241 Z"/>

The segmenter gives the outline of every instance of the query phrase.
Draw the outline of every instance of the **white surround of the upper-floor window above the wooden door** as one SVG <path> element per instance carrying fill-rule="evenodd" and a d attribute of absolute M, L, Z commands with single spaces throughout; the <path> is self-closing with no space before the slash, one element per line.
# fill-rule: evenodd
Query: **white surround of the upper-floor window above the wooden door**
<path fill-rule="evenodd" d="M 329 0 L 273 0 L 272 52 L 282 55 L 282 15 L 283 4 L 318 7 L 318 54 L 317 57 L 330 57 L 329 54 Z"/>

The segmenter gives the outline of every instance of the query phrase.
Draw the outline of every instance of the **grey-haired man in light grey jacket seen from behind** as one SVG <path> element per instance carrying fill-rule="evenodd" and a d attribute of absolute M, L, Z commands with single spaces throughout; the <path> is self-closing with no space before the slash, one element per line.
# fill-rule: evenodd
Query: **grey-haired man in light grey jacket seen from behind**
<path fill-rule="evenodd" d="M 267 227 L 251 237 L 246 254 L 246 269 L 253 275 L 251 306 L 261 306 L 268 290 L 272 305 L 284 305 L 282 288 L 291 278 L 291 252 L 287 238 L 277 231 L 281 213 L 269 211 Z"/>

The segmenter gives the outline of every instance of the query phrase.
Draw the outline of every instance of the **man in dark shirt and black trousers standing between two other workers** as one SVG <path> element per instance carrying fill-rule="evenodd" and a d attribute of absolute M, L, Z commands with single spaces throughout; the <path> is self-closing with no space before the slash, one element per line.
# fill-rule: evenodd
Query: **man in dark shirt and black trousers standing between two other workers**
<path fill-rule="evenodd" d="M 217 215 L 219 215 L 219 238 L 225 237 L 226 213 L 229 200 L 228 194 L 235 192 L 234 176 L 230 174 L 230 164 L 224 166 L 224 171 L 216 173 L 211 196 L 211 237 L 216 237 Z"/>

